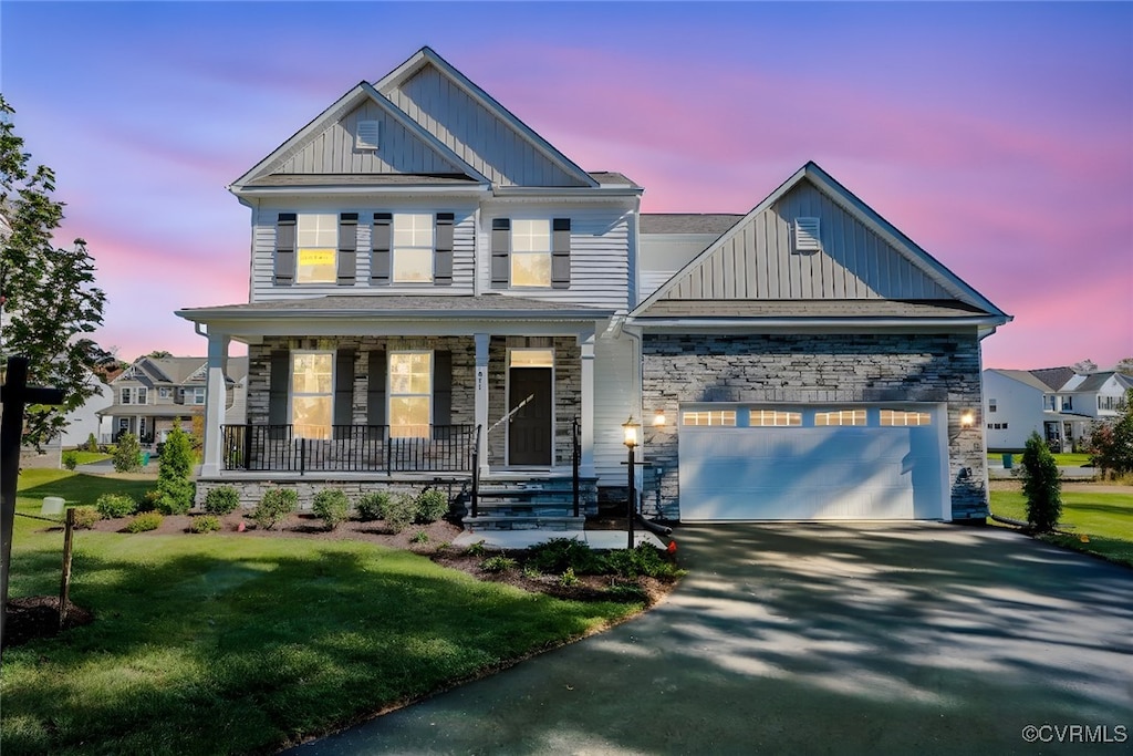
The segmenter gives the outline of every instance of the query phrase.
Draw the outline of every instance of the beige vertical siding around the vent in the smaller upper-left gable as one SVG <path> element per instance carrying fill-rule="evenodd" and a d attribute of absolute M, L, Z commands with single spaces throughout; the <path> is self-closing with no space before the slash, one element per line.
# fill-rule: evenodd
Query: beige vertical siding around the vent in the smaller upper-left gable
<path fill-rule="evenodd" d="M 356 150 L 359 120 L 381 124 L 377 150 Z M 463 173 L 373 102 L 367 102 L 284 159 L 275 173 Z"/>

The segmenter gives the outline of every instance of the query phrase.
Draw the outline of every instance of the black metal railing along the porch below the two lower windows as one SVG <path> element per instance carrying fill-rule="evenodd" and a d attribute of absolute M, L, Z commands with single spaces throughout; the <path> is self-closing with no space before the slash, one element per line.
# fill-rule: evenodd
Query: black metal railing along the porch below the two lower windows
<path fill-rule="evenodd" d="M 222 425 L 225 470 L 265 473 L 468 473 L 476 426 L 433 425 L 423 438 L 391 438 L 389 425 L 334 425 L 327 439 L 291 425 Z"/>

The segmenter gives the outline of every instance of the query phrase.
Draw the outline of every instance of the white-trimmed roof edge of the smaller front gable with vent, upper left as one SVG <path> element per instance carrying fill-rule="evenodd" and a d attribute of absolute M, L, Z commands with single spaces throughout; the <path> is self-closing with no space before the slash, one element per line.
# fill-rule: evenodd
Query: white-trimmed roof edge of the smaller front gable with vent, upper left
<path fill-rule="evenodd" d="M 444 163 L 451 167 L 452 172 L 458 177 L 463 177 L 466 180 L 471 180 L 482 185 L 488 185 L 491 181 L 477 171 L 475 168 L 465 162 L 455 152 L 452 151 L 446 144 L 437 139 L 433 134 L 431 134 L 425 127 L 419 122 L 410 118 L 400 108 L 390 102 L 386 97 L 380 95 L 373 85 L 360 82 L 357 86 L 351 88 L 349 92 L 339 97 L 333 104 L 331 104 L 326 110 L 320 113 L 315 119 L 299 129 L 289 139 L 287 139 L 279 147 L 273 150 L 266 158 L 261 160 L 258 163 L 252 167 L 247 172 L 245 172 L 240 178 L 236 179 L 229 189 L 236 194 L 240 194 L 241 190 L 250 188 L 254 186 L 273 186 L 278 185 L 279 173 L 276 172 L 283 163 L 299 153 L 304 147 L 309 145 L 314 139 L 316 139 L 321 134 L 323 134 L 327 128 L 338 122 L 340 119 L 344 118 L 348 113 L 355 111 L 359 107 L 370 103 L 375 105 L 382 113 L 389 117 L 393 122 L 403 128 L 411 137 L 416 138 L 426 151 L 438 156 Z M 313 185 L 325 186 L 325 178 L 320 180 L 316 177 L 325 177 L 325 173 L 286 173 L 284 176 L 312 176 Z M 375 175 L 359 175 L 363 178 L 356 179 L 365 181 L 367 176 Z M 385 173 L 378 173 L 376 176 L 387 176 Z M 375 178 L 376 178 L 375 176 Z M 404 178 L 404 175 L 395 175 Z M 301 182 L 299 178 L 289 179 L 290 185 Z M 346 181 L 344 181 L 346 182 Z"/>

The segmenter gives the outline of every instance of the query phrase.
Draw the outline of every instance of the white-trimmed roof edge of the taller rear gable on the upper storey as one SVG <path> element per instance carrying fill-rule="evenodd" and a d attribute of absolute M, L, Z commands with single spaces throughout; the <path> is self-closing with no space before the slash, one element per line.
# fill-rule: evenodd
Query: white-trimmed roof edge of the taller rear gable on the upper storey
<path fill-rule="evenodd" d="M 598 187 L 598 181 L 595 180 L 593 176 L 579 168 L 572 160 L 556 150 L 550 142 L 539 136 L 535 129 L 530 128 L 527 124 L 517 118 L 510 110 L 496 102 L 492 95 L 457 70 L 432 48 L 424 46 L 415 52 L 408 60 L 376 82 L 374 87 L 384 97 L 389 97 L 391 102 L 397 102 L 398 93 L 401 87 L 427 68 L 435 69 L 452 86 L 457 87 L 459 91 L 471 97 L 472 101 L 486 109 L 518 138 L 531 145 L 538 154 L 543 155 L 544 159 L 570 176 L 579 186 L 591 188 Z"/>

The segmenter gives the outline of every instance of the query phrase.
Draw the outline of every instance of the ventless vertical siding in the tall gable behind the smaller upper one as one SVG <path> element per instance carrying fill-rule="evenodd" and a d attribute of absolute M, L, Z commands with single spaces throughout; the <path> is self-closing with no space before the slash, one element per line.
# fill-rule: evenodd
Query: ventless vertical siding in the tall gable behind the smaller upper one
<path fill-rule="evenodd" d="M 586 186 L 433 66 L 389 97 L 497 186 Z"/>

